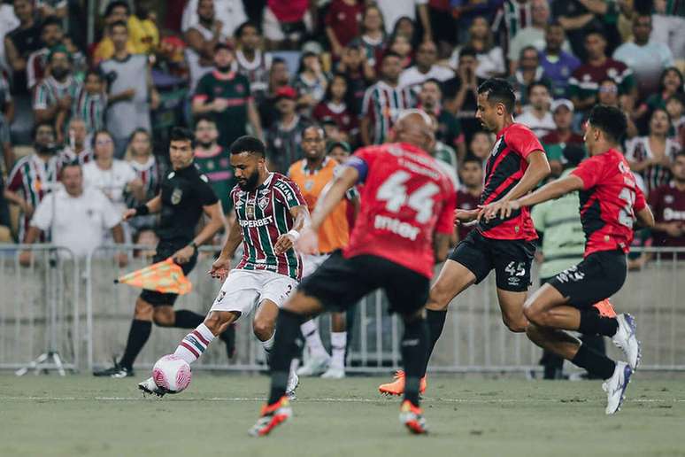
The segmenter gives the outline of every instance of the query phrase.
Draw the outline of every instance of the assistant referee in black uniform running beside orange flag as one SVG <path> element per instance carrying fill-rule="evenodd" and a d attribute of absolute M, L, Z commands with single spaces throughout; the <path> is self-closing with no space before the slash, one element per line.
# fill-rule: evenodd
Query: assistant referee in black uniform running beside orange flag
<path fill-rule="evenodd" d="M 197 246 L 212 239 L 223 227 L 224 221 L 219 199 L 207 183 L 207 178 L 197 171 L 193 163 L 194 149 L 195 136 L 192 132 L 186 128 L 172 128 L 169 159 L 173 172 L 165 177 L 157 197 L 145 205 L 127 210 L 123 215 L 123 220 L 127 221 L 135 216 L 160 213 L 157 229 L 159 243 L 152 261 L 155 263 L 172 257 L 185 275 L 195 267 Z M 197 223 L 203 213 L 210 221 L 195 235 Z M 135 301 L 134 318 L 124 355 L 114 367 L 95 372 L 94 375 L 116 378 L 133 376 L 135 358 L 150 337 L 153 321 L 160 327 L 181 329 L 195 329 L 204 321 L 202 314 L 188 310 L 174 312 L 173 303 L 176 298 L 178 295 L 174 293 L 142 290 Z M 222 334 L 221 339 L 227 343 L 230 354 L 234 339 L 233 328 Z"/>

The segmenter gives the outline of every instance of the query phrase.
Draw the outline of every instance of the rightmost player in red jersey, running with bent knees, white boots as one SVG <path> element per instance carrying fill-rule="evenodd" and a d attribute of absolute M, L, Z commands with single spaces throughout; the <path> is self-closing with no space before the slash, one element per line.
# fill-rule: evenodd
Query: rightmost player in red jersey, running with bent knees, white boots
<path fill-rule="evenodd" d="M 568 176 L 497 209 L 506 217 L 521 208 L 580 192 L 584 259 L 536 290 L 527 299 L 524 314 L 529 321 L 527 335 L 536 345 L 606 380 L 602 386 L 607 394 L 606 414 L 620 409 L 640 361 L 640 342 L 630 314 L 605 317 L 592 306 L 618 292 L 626 281 L 626 254 L 633 240 L 635 216 L 644 225 L 654 226 L 643 192 L 618 150 L 626 128 L 626 116 L 618 108 L 596 105 L 585 127 L 590 158 Z M 581 345 L 564 330 L 612 337 L 625 353 L 627 363 L 614 362 Z"/>

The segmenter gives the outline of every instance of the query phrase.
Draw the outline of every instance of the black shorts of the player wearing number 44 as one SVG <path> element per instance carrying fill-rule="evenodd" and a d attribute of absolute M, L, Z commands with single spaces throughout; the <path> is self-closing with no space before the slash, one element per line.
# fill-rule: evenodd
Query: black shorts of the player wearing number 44
<path fill-rule="evenodd" d="M 414 314 L 426 306 L 430 280 L 424 275 L 373 255 L 350 259 L 336 251 L 305 277 L 298 290 L 317 298 L 328 311 L 344 312 L 376 289 L 385 291 L 390 313 Z"/>

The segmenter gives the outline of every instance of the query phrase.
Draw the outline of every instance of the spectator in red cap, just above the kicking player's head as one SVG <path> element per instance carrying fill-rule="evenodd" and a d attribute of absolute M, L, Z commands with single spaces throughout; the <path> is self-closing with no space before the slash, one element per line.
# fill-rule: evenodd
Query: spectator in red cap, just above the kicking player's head
<path fill-rule="evenodd" d="M 279 119 L 266 132 L 269 169 L 285 173 L 290 165 L 302 159 L 302 134 L 312 123 L 296 112 L 297 91 L 281 87 L 275 94 Z"/>

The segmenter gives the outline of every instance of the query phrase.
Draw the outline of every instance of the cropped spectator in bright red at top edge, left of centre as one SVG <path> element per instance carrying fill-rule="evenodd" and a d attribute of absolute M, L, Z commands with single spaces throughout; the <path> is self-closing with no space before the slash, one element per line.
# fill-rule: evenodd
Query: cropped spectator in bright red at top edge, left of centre
<path fill-rule="evenodd" d="M 269 49 L 297 49 L 312 30 L 310 0 L 267 0 L 262 27 Z"/>

